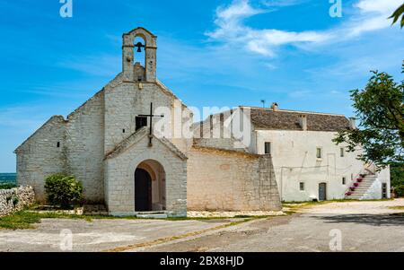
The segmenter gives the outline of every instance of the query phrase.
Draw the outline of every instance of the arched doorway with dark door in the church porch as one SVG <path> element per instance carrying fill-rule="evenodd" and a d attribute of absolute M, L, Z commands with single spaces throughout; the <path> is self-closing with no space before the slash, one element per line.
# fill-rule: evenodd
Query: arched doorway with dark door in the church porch
<path fill-rule="evenodd" d="M 158 161 L 141 162 L 135 171 L 135 211 L 163 211 L 165 206 L 165 171 Z"/>

